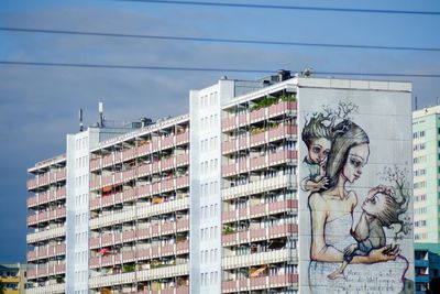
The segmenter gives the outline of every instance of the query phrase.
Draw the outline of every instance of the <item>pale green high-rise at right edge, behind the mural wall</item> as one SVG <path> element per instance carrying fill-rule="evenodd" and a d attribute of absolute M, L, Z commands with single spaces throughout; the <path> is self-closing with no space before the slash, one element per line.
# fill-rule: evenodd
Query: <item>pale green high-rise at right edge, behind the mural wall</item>
<path fill-rule="evenodd" d="M 415 241 L 440 242 L 440 106 L 413 112 Z"/>

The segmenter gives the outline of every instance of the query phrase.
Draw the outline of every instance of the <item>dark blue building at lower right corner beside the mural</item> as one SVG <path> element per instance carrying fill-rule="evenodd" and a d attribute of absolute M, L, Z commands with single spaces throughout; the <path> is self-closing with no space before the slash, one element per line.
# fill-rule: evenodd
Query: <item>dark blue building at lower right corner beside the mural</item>
<path fill-rule="evenodd" d="M 440 279 L 440 244 L 415 243 L 416 265 L 416 293 L 422 294 L 429 288 L 429 282 L 433 277 Z"/>

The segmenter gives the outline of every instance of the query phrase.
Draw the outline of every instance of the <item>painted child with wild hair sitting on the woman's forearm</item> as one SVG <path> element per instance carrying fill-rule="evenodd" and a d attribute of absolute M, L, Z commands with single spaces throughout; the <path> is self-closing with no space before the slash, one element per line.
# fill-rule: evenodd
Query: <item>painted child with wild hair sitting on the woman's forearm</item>
<path fill-rule="evenodd" d="M 391 187 L 377 186 L 369 192 L 369 196 L 362 205 L 361 218 L 351 233 L 358 243 L 351 244 L 344 250 L 344 261 L 341 266 L 328 275 L 334 280 L 344 277 L 346 265 L 355 255 L 369 255 L 374 249 L 385 248 L 383 253 L 397 255 L 398 246 L 386 246 L 384 227 L 400 224 L 398 217 L 403 213 L 402 203 L 398 203 Z"/>

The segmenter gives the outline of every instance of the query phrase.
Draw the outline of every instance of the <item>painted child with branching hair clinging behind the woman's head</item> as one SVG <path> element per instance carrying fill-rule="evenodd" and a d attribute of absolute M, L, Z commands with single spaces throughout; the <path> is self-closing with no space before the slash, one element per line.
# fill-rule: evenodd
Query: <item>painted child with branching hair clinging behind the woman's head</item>
<path fill-rule="evenodd" d="M 301 138 L 308 149 L 307 156 L 302 161 L 302 170 L 307 171 L 307 176 L 300 184 L 302 190 L 318 192 L 327 188 L 326 164 L 331 146 L 332 128 L 326 126 L 326 121 L 328 119 L 318 115 L 302 129 Z"/>

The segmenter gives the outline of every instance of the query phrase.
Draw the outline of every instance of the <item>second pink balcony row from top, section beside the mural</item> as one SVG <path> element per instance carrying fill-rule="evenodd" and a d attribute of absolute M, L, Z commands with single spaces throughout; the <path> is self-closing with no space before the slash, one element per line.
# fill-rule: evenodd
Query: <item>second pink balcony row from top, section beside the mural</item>
<path fill-rule="evenodd" d="M 265 143 L 270 143 L 279 139 L 290 138 L 298 133 L 296 126 L 287 124 L 279 126 L 276 129 L 270 129 L 267 131 L 251 133 L 249 137 L 241 137 L 222 143 L 222 153 L 229 154 L 239 150 L 254 148 Z"/>

